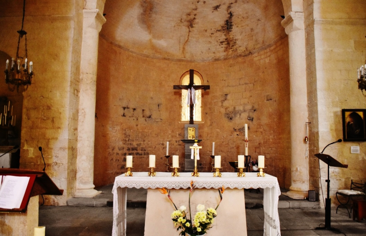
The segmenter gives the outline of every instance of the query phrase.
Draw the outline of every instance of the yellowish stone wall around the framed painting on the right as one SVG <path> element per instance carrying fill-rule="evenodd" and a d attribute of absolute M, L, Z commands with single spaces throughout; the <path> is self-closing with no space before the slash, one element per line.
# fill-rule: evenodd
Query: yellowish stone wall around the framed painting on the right
<path fill-rule="evenodd" d="M 308 84 L 310 127 L 311 188 L 319 186 L 318 160 L 314 153 L 321 152 L 330 142 L 342 138 L 342 109 L 364 109 L 366 98 L 357 89 L 357 68 L 365 63 L 366 17 L 364 1 L 315 1 L 307 9 L 313 11 L 313 35 L 308 36 Z M 313 20 L 311 19 L 313 15 Z M 310 24 L 309 24 L 310 25 Z M 312 31 L 310 26 L 309 32 Z M 311 39 L 314 37 L 314 39 Z M 312 41 L 312 42 L 311 42 Z M 314 64 L 315 62 L 315 64 Z M 316 72 L 316 73 L 315 73 Z M 359 146 L 360 154 L 351 154 L 350 146 Z M 330 195 L 335 199 L 338 188 L 349 188 L 350 181 L 365 182 L 366 144 L 342 142 L 327 147 L 324 153 L 348 164 L 348 168 L 330 168 Z M 321 184 L 326 194 L 327 166 L 320 161 Z M 325 190 L 325 191 L 324 191 Z M 321 191 L 319 190 L 321 193 Z M 333 201 L 336 203 L 336 201 Z"/>

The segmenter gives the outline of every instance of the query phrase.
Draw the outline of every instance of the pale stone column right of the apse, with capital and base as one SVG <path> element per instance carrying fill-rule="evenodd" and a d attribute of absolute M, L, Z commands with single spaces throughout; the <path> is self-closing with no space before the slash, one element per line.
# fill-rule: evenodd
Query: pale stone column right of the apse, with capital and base
<path fill-rule="evenodd" d="M 308 122 L 304 14 L 290 12 L 281 22 L 288 35 L 290 68 L 291 186 L 285 195 L 304 199 L 309 189 Z"/>

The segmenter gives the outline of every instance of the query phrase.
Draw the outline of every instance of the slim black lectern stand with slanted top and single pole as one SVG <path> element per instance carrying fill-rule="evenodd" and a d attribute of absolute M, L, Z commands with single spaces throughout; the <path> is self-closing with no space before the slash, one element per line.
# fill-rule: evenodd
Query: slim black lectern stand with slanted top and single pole
<path fill-rule="evenodd" d="M 326 195 L 326 198 L 325 198 L 325 226 L 324 227 L 317 227 L 315 229 L 326 229 L 326 230 L 339 232 L 339 229 L 330 227 L 329 166 L 347 168 L 348 165 L 344 165 L 344 164 L 340 163 L 339 161 L 337 161 L 336 159 L 334 159 L 333 157 L 331 157 L 327 154 L 323 154 L 322 152 L 315 154 L 315 156 L 317 158 L 319 158 L 319 160 L 322 160 L 323 162 L 325 162 L 328 165 L 328 179 L 325 180 L 325 182 L 327 182 L 327 195 Z"/>

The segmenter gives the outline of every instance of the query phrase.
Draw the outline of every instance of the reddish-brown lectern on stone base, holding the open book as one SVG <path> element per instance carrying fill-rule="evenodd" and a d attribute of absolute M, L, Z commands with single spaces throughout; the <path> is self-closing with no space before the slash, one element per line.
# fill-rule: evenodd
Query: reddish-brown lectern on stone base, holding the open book
<path fill-rule="evenodd" d="M 0 208 L 0 223 L 7 235 L 33 235 L 38 226 L 38 195 L 62 195 L 64 190 L 59 189 L 44 171 L 0 168 L 0 175 L 30 177 L 20 208 Z"/>

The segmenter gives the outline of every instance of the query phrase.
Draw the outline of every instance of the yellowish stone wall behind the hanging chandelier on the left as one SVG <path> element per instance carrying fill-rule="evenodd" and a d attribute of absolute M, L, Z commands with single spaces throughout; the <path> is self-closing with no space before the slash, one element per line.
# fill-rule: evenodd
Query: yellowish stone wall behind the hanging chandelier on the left
<path fill-rule="evenodd" d="M 23 1 L 1 4 L 0 51 L 15 57 Z M 42 146 L 46 173 L 65 190 L 62 196 L 47 197 L 46 204 L 66 204 L 75 188 L 82 9 L 82 1 L 26 4 L 24 30 L 35 76 L 23 93 L 20 167 L 42 170 Z"/>

